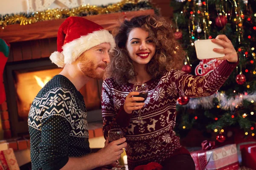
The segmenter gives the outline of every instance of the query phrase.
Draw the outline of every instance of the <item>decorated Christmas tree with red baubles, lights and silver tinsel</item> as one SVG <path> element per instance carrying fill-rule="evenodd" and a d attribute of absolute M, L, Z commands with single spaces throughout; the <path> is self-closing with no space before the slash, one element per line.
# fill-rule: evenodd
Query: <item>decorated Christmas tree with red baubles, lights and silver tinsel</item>
<path fill-rule="evenodd" d="M 183 71 L 204 76 L 220 61 L 198 60 L 194 43 L 225 34 L 239 56 L 239 65 L 220 88 L 208 97 L 177 100 L 175 131 L 181 138 L 189 129 L 224 142 L 225 129 L 237 127 L 244 137 L 256 133 L 256 1 L 172 0 L 175 37 L 186 51 Z"/>

